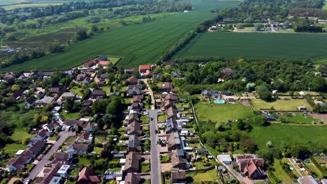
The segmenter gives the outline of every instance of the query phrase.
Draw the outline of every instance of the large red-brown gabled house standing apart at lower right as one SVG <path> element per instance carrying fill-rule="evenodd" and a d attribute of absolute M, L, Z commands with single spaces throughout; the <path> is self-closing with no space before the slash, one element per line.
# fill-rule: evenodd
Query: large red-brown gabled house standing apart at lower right
<path fill-rule="evenodd" d="M 237 161 L 240 173 L 252 179 L 263 179 L 267 177 L 263 167 L 262 158 L 242 158 Z"/>

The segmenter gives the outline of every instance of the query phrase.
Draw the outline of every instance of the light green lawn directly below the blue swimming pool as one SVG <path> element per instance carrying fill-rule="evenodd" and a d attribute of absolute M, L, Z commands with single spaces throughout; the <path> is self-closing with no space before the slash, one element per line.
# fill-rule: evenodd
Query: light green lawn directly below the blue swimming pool
<path fill-rule="evenodd" d="M 211 104 L 208 101 L 197 102 L 194 105 L 199 121 L 225 122 L 228 119 L 238 119 L 252 116 L 252 110 L 244 105 Z"/>

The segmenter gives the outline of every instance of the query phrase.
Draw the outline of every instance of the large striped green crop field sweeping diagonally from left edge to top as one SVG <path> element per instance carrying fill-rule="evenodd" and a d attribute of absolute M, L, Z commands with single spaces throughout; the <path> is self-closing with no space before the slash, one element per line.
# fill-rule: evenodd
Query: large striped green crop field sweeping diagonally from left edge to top
<path fill-rule="evenodd" d="M 65 51 L 50 54 L 22 64 L 4 68 L 7 70 L 53 70 L 71 68 L 96 55 L 122 56 L 119 65 L 137 67 L 142 63 L 154 63 L 164 49 L 177 42 L 203 20 L 212 17 L 211 9 L 204 7 L 207 1 L 198 3 L 190 13 L 174 13 L 154 22 L 134 24 L 106 31 L 66 47 Z M 237 1 L 208 1 L 211 8 L 235 6 Z M 215 6 L 213 6 L 215 4 Z M 208 12 L 205 12 L 208 10 Z"/>

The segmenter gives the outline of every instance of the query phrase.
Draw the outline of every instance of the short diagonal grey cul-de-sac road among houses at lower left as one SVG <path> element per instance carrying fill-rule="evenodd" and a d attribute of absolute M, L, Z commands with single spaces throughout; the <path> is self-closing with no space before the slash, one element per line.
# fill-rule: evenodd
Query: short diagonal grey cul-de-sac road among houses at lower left
<path fill-rule="evenodd" d="M 59 136 L 60 138 L 54 143 L 54 145 L 50 148 L 48 153 L 46 153 L 42 158 L 42 160 L 40 160 L 40 162 L 38 162 L 38 164 L 36 164 L 36 166 L 29 172 L 28 178 L 34 180 L 36 176 L 38 176 L 38 174 L 42 171 L 45 164 L 48 164 L 51 155 L 54 152 L 56 152 L 62 144 L 64 144 L 64 141 L 66 141 L 68 137 L 73 136 L 73 132 L 67 132 L 67 131 L 60 132 Z"/>

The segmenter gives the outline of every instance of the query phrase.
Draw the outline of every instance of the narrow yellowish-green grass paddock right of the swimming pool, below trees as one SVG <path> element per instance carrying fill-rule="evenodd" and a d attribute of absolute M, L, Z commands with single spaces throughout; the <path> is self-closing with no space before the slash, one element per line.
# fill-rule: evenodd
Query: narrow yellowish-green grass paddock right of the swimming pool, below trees
<path fill-rule="evenodd" d="M 252 99 L 252 107 L 255 110 L 270 109 L 274 107 L 275 110 L 281 111 L 297 111 L 298 106 L 305 106 L 308 110 L 312 107 L 307 103 L 305 99 L 289 99 L 289 100 L 276 100 L 275 102 L 266 102 L 261 99 Z"/>

